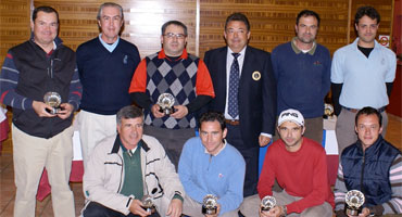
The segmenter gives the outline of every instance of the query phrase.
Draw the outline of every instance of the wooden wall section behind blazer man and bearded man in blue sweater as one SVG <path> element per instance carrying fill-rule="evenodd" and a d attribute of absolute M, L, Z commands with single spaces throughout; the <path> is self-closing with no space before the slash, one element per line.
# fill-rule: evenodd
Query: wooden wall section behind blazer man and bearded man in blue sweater
<path fill-rule="evenodd" d="M 294 37 L 296 17 L 303 9 L 321 15 L 317 41 L 334 52 L 347 43 L 348 7 L 348 0 L 201 0 L 200 55 L 225 44 L 224 25 L 233 12 L 242 12 L 249 17 L 250 44 L 272 51 Z"/>

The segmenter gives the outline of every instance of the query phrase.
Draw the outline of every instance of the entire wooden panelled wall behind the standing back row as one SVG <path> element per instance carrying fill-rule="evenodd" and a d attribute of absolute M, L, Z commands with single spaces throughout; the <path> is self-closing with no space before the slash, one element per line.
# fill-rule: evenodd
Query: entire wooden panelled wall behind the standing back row
<path fill-rule="evenodd" d="M 9 48 L 29 37 L 30 2 L 54 7 L 61 18 L 60 36 L 76 49 L 97 37 L 96 15 L 101 0 L 0 0 L 0 61 Z M 357 7 L 374 5 L 381 15 L 379 34 L 390 35 L 393 0 L 115 0 L 124 8 L 125 30 L 122 37 L 134 42 L 141 56 L 160 50 L 160 28 L 169 20 L 179 20 L 189 28 L 188 50 L 204 52 L 225 44 L 226 17 L 246 13 L 251 22 L 250 44 L 271 51 L 294 36 L 299 11 L 311 9 L 322 17 L 317 41 L 331 52 L 355 38 L 353 20 Z M 348 20 L 349 5 L 351 18 Z M 198 11 L 199 10 L 199 11 Z M 197 15 L 200 15 L 199 23 Z M 199 26 L 199 44 L 197 29 Z M 350 40 L 348 41 L 348 34 Z"/>

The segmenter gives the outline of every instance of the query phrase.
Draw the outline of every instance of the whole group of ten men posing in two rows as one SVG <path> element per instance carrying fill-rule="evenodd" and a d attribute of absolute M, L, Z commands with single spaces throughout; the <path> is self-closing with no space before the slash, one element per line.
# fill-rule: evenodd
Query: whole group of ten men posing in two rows
<path fill-rule="evenodd" d="M 367 197 L 362 216 L 402 212 L 401 152 L 380 136 L 395 56 L 375 40 L 375 9 L 357 10 L 359 37 L 332 62 L 315 41 L 319 16 L 310 10 L 299 13 L 296 37 L 272 55 L 248 46 L 250 23 L 234 13 L 225 23 L 227 46 L 204 60 L 187 52 L 181 22 L 166 22 L 162 50 L 141 61 L 120 37 L 121 5 L 103 3 L 97 21 L 99 37 L 75 54 L 58 37 L 58 12 L 36 8 L 32 38 L 4 60 L 0 102 L 13 107 L 14 216 L 35 215 L 43 167 L 54 216 L 75 215 L 68 177 L 78 108 L 84 216 L 203 216 L 206 194 L 217 199 L 217 213 L 208 216 L 331 216 L 334 207 L 342 216 L 353 189 Z M 331 82 L 341 153 L 335 201 L 321 145 Z M 43 102 L 47 93 L 59 98 L 56 112 Z M 158 103 L 164 93 L 175 101 L 169 114 Z M 259 179 L 260 146 L 272 140 Z M 266 195 L 277 205 L 261 212 Z M 143 196 L 156 212 L 143 208 Z"/>

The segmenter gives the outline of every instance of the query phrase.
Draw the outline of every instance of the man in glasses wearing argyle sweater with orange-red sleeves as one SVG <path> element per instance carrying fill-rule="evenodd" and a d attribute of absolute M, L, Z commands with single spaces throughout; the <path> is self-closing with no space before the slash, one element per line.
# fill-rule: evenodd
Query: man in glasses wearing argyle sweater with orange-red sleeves
<path fill-rule="evenodd" d="M 133 101 L 145 108 L 145 133 L 162 143 L 176 168 L 183 145 L 196 136 L 196 113 L 215 97 L 205 64 L 187 53 L 187 36 L 181 22 L 163 24 L 162 50 L 141 61 L 129 88 Z M 171 114 L 158 104 L 162 93 L 175 100 Z"/>

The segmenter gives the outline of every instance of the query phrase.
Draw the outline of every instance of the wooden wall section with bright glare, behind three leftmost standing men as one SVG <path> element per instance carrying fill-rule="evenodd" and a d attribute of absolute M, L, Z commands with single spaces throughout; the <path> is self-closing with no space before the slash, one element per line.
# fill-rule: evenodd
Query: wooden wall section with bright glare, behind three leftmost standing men
<path fill-rule="evenodd" d="M 60 13 L 61 38 L 74 50 L 84 41 L 99 35 L 97 13 L 101 0 L 35 0 L 37 5 L 51 5 Z M 123 7 L 125 27 L 122 38 L 135 43 L 145 58 L 161 49 L 161 26 L 169 20 L 178 20 L 188 27 L 187 49 L 196 51 L 194 0 L 118 0 Z"/>

